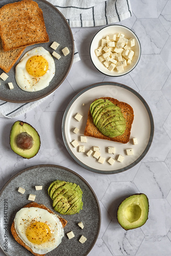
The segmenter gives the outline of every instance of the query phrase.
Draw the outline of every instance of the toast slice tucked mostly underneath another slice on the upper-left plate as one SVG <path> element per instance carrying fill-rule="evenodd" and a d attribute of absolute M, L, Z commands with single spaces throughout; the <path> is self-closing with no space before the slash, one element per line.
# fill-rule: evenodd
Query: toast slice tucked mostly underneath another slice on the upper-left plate
<path fill-rule="evenodd" d="M 25 49 L 26 47 L 23 47 L 5 52 L 0 38 L 0 68 L 8 73 Z"/>

